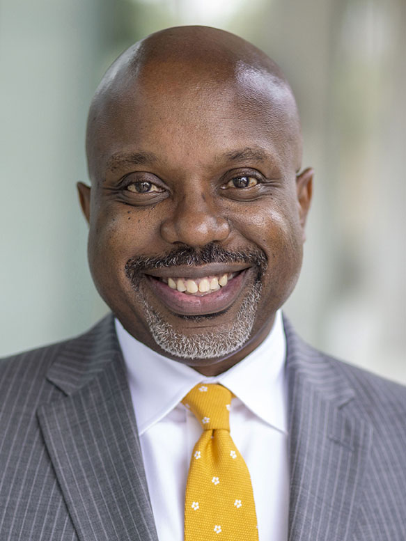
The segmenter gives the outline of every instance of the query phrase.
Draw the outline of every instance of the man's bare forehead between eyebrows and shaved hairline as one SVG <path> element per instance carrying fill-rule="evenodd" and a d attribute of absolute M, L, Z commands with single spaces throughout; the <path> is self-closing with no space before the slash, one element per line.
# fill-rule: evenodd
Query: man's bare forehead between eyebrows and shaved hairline
<path fill-rule="evenodd" d="M 258 70 L 209 73 L 162 63 L 124 83 L 104 97 L 93 131 L 99 175 L 127 152 L 175 167 L 212 164 L 244 148 L 263 149 L 280 166 L 295 161 L 295 102 L 286 86 Z"/>

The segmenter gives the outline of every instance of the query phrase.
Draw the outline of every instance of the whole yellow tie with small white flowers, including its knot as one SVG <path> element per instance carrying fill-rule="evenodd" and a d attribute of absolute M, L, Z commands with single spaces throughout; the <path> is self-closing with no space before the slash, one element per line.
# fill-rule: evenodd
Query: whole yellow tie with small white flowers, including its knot
<path fill-rule="evenodd" d="M 201 423 L 185 495 L 185 541 L 258 541 L 251 478 L 230 436 L 233 394 L 199 384 L 182 403 Z"/>

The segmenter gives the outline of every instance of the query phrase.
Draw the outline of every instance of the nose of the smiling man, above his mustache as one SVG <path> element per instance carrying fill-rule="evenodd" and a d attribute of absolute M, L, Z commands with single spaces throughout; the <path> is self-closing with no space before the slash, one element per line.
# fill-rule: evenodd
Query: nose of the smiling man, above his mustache
<path fill-rule="evenodd" d="M 188 246 L 205 246 L 209 242 L 226 240 L 230 224 L 206 203 L 208 196 L 184 196 L 175 206 L 173 214 L 162 221 L 161 235 L 166 242 L 181 242 Z"/>

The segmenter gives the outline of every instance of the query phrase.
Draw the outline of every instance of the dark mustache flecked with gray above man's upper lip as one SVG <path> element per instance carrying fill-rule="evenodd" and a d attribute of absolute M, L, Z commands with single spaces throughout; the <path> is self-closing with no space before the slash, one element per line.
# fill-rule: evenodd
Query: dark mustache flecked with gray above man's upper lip
<path fill-rule="evenodd" d="M 230 251 L 210 242 L 201 249 L 192 246 L 173 249 L 160 257 L 133 257 L 125 264 L 125 275 L 137 288 L 142 274 L 148 270 L 178 267 L 180 265 L 200 266 L 208 263 L 244 263 L 257 267 L 257 281 L 260 281 L 266 268 L 267 256 L 263 250 L 252 248 L 248 250 Z"/>

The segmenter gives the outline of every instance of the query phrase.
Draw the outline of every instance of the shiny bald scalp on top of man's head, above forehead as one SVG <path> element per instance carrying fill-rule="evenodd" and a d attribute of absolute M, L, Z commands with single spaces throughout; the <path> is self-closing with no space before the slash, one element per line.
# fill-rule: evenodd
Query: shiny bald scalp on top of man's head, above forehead
<path fill-rule="evenodd" d="M 179 26 L 132 45 L 102 78 L 86 133 L 91 179 L 97 176 L 100 132 L 108 129 L 117 109 L 131 107 L 137 96 L 149 96 L 151 107 L 155 98 L 162 102 L 175 97 L 185 110 L 198 107 L 197 95 L 212 103 L 217 96 L 231 93 L 244 100 L 247 114 L 256 114 L 256 102 L 265 105 L 275 129 L 283 130 L 298 170 L 302 159 L 299 117 L 281 69 L 260 49 L 231 33 L 207 26 Z"/>

